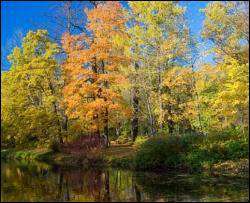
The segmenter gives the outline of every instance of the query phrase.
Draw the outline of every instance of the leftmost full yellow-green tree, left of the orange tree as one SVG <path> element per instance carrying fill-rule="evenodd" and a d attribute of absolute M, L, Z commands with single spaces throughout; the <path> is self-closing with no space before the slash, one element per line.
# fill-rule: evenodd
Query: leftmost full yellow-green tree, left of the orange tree
<path fill-rule="evenodd" d="M 11 68 L 3 74 L 2 121 L 6 136 L 16 144 L 48 141 L 61 135 L 57 112 L 60 81 L 58 80 L 57 44 L 46 30 L 30 31 L 8 56 Z M 8 87 L 8 88 L 7 88 Z M 10 130 L 10 131 L 9 131 Z M 27 144 L 27 143 L 26 143 Z"/>

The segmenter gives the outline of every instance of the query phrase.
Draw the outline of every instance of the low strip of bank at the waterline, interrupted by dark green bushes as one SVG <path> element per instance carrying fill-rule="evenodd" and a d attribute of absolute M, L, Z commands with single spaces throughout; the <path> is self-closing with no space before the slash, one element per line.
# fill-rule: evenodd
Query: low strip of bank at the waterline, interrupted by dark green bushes
<path fill-rule="evenodd" d="M 33 150 L 1 150 L 1 159 L 36 160 L 63 167 L 114 167 L 138 171 L 135 164 L 135 154 L 138 148 L 134 145 L 111 145 L 107 149 L 93 151 L 86 156 L 54 153 L 49 149 Z M 249 175 L 249 159 L 227 160 L 213 164 L 204 164 L 199 171 L 188 168 L 162 168 L 161 172 L 169 170 L 184 170 L 186 172 L 205 172 L 215 176 L 237 176 L 246 177 Z M 149 170 L 150 171 L 150 170 Z M 152 170 L 153 171 L 153 170 Z"/>

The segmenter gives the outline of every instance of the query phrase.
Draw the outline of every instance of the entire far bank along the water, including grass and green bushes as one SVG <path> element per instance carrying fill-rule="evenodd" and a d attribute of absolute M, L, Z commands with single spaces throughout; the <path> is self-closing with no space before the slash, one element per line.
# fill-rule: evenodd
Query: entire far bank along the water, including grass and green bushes
<path fill-rule="evenodd" d="M 138 137 L 133 145 L 115 144 L 86 155 L 53 152 L 48 149 L 2 150 L 3 159 L 30 159 L 62 166 L 111 166 L 130 170 L 208 172 L 246 176 L 249 172 L 248 136 Z"/>

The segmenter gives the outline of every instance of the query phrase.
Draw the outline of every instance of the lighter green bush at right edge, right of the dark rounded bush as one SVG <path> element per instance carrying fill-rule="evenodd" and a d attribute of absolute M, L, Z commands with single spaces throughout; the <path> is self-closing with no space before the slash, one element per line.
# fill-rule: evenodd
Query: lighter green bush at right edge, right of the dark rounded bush
<path fill-rule="evenodd" d="M 237 129 L 227 129 L 199 141 L 197 147 L 189 150 L 185 163 L 190 168 L 198 169 L 207 163 L 247 158 L 248 153 L 248 137 Z"/>

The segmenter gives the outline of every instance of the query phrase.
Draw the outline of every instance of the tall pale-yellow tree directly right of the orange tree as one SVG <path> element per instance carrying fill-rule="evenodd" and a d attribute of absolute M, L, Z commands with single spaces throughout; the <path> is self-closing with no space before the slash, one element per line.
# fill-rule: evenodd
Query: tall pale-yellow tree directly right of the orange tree
<path fill-rule="evenodd" d="M 181 64 L 188 51 L 189 30 L 184 8 L 175 2 L 129 2 L 129 6 L 130 37 L 124 46 L 132 62 L 129 78 L 135 139 L 136 126 L 143 117 L 150 126 L 150 134 L 163 129 L 163 75 L 168 68 Z M 172 128 L 172 121 L 167 125 Z"/>

